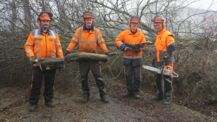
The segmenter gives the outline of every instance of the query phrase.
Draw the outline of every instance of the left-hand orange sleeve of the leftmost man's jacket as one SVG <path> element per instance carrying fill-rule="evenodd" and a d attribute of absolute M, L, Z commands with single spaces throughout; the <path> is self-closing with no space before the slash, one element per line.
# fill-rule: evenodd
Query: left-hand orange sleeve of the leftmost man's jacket
<path fill-rule="evenodd" d="M 29 34 L 29 37 L 26 41 L 26 43 L 24 44 L 24 50 L 26 52 L 26 56 L 27 57 L 34 57 L 34 36 L 32 35 L 32 33 Z"/>

